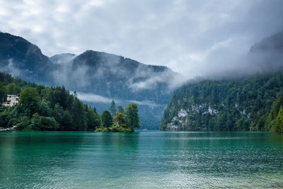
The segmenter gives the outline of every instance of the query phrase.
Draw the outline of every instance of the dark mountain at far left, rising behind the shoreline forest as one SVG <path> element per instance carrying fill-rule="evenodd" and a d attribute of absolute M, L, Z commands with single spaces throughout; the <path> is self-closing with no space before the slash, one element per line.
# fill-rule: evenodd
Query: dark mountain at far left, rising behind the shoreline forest
<path fill-rule="evenodd" d="M 28 40 L 0 32 L 0 67 L 27 81 L 45 82 L 52 62 Z"/>

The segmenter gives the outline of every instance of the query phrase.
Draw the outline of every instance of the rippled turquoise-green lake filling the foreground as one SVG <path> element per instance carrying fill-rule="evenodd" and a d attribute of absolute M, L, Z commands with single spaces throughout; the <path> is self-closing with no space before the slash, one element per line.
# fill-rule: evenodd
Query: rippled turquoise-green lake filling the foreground
<path fill-rule="evenodd" d="M 283 188 L 283 134 L 0 132 L 0 188 Z"/>

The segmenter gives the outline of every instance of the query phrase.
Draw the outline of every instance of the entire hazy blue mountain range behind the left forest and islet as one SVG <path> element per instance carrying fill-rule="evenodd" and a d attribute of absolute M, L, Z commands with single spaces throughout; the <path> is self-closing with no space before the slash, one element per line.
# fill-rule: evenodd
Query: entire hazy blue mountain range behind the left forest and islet
<path fill-rule="evenodd" d="M 139 105 L 142 128 L 158 129 L 166 105 L 182 76 L 168 67 L 142 64 L 105 52 L 87 50 L 47 57 L 21 37 L 0 33 L 0 71 L 26 81 L 61 85 L 76 91 L 98 113 L 130 102 Z"/>

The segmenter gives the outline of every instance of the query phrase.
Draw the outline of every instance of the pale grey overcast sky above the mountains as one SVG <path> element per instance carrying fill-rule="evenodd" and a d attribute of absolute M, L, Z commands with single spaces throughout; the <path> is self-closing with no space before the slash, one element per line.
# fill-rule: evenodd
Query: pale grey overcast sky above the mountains
<path fill-rule="evenodd" d="M 189 77 L 236 66 L 282 29 L 282 0 L 0 0 L 0 30 L 47 56 L 98 50 Z"/>

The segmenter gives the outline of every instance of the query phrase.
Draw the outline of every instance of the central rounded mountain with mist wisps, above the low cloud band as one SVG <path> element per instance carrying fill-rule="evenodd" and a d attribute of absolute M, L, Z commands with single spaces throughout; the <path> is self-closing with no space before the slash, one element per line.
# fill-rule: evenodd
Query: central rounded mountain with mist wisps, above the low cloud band
<path fill-rule="evenodd" d="M 83 52 L 70 62 L 58 64 L 52 74 L 57 84 L 71 90 L 107 98 L 156 103 L 167 102 L 164 97 L 171 95 L 168 79 L 177 75 L 167 67 L 141 64 L 92 50 Z"/>

